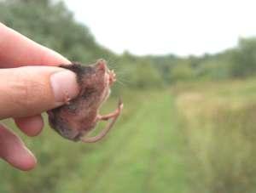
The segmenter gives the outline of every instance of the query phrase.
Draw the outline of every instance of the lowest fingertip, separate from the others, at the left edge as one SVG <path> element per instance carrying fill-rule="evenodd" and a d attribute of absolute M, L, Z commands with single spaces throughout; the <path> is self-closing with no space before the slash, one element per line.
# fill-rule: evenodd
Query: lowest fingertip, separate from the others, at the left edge
<path fill-rule="evenodd" d="M 20 138 L 3 125 L 0 125 L 0 157 L 12 166 L 25 171 L 37 164 L 35 156 Z"/>

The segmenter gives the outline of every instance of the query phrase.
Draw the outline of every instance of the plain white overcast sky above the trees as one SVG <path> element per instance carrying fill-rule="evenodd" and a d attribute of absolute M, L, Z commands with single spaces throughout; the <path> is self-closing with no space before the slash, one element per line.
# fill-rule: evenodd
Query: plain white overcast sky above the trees
<path fill-rule="evenodd" d="M 256 35 L 254 0 L 64 0 L 116 53 L 204 54 Z"/>

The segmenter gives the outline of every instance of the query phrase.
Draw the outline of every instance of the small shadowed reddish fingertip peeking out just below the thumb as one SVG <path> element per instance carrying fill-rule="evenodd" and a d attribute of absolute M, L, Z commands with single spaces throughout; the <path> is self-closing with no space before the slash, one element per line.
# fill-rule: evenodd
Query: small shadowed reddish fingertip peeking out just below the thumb
<path fill-rule="evenodd" d="M 28 136 L 38 135 L 44 128 L 44 121 L 41 115 L 15 118 L 16 125 Z"/>

